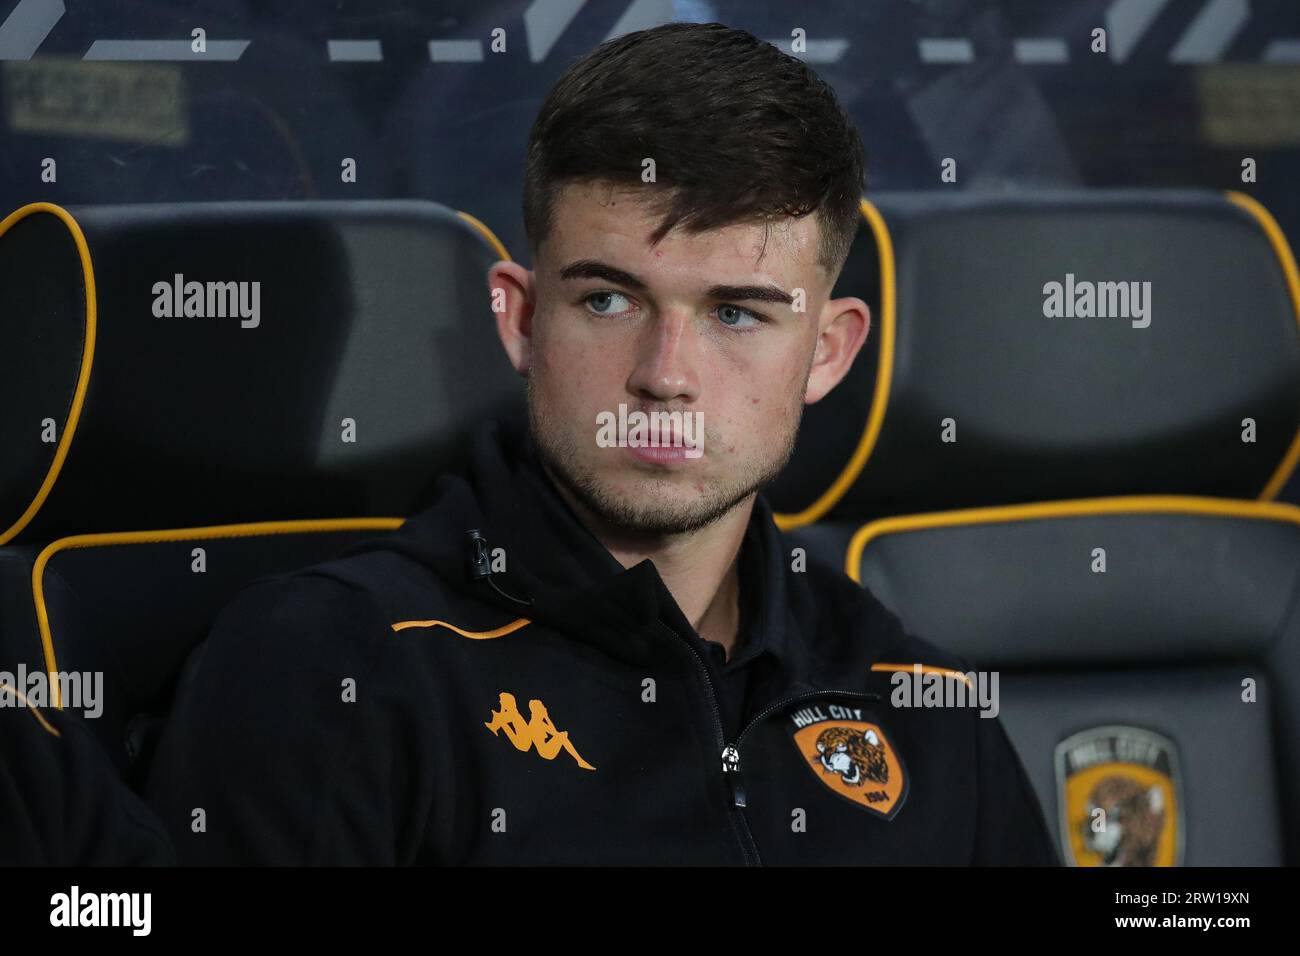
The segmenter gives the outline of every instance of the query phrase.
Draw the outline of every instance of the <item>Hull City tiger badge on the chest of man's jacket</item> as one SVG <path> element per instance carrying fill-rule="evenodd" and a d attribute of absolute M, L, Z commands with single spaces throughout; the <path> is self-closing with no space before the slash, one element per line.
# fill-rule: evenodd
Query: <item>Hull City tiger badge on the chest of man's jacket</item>
<path fill-rule="evenodd" d="M 893 819 L 907 799 L 902 756 L 861 708 L 816 704 L 789 715 L 794 747 L 823 787 L 868 813 Z"/>

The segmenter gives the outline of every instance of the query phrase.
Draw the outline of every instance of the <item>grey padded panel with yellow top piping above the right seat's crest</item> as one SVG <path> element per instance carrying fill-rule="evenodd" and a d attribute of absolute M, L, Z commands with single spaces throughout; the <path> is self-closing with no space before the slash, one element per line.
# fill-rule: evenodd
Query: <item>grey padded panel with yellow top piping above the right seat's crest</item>
<path fill-rule="evenodd" d="M 845 571 L 982 666 L 1265 659 L 1300 637 L 1300 507 L 1283 502 L 1134 496 L 884 518 L 853 535 Z"/>

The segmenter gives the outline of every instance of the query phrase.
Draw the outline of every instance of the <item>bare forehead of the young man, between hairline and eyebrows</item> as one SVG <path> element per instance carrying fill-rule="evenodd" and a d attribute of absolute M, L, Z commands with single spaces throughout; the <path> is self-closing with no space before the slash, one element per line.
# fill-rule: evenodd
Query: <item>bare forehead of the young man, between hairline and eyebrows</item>
<path fill-rule="evenodd" d="M 575 260 L 619 260 L 624 268 L 640 264 L 656 271 L 707 272 L 710 281 L 716 281 L 722 269 L 729 280 L 794 284 L 818 268 L 815 216 L 736 222 L 699 233 L 677 225 L 651 245 L 664 213 L 653 189 L 567 183 L 552 209 L 547 264 L 558 271 Z"/>

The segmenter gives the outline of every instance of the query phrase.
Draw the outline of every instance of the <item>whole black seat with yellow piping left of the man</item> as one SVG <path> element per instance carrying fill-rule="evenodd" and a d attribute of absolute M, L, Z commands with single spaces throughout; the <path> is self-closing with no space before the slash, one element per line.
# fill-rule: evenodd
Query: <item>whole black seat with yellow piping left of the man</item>
<path fill-rule="evenodd" d="M 101 671 L 86 724 L 136 782 L 222 605 L 399 527 L 472 425 L 520 406 L 499 258 L 428 202 L 6 219 L 0 671 Z M 259 281 L 256 321 L 156 315 L 176 274 Z"/>

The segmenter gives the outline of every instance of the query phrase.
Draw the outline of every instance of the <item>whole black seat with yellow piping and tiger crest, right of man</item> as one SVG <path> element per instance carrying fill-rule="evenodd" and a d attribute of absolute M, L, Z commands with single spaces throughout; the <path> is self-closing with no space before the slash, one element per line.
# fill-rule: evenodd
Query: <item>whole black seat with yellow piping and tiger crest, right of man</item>
<path fill-rule="evenodd" d="M 837 291 L 878 347 L 809 408 L 780 523 L 998 671 L 1067 862 L 1300 862 L 1300 507 L 1275 501 L 1300 278 L 1277 224 L 1204 193 L 863 212 Z M 1150 323 L 1045 315 L 1067 273 L 1152 282 Z M 1089 843 L 1096 806 L 1118 843 Z"/>

